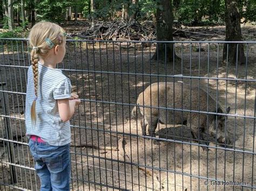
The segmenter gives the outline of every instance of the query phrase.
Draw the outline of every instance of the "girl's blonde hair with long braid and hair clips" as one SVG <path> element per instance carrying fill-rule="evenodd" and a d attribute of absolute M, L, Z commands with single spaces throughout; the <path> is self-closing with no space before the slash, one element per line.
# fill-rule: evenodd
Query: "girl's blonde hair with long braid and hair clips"
<path fill-rule="evenodd" d="M 62 44 L 66 40 L 65 31 L 57 24 L 50 22 L 39 22 L 34 25 L 29 33 L 29 44 L 31 50 L 31 62 L 33 69 L 33 80 L 35 86 L 35 99 L 31 106 L 31 121 L 36 123 L 36 100 L 38 90 L 38 61 L 44 58 L 51 48 Z"/>

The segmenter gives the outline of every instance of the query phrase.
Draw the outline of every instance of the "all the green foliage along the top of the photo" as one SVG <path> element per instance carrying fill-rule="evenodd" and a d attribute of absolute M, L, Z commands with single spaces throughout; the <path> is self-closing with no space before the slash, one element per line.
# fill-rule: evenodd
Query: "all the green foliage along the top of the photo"
<path fill-rule="evenodd" d="M 30 11 L 35 5 L 37 22 L 48 20 L 62 23 L 66 17 L 66 8 L 71 6 L 72 12 L 75 7 L 87 18 L 91 16 L 98 19 L 118 19 L 122 16 L 123 7 L 127 7 L 129 15 L 136 14 L 140 20 L 151 20 L 156 15 L 158 2 L 162 0 L 138 0 L 133 4 L 131 0 L 95 0 L 96 9 L 91 12 L 91 0 L 25 0 L 25 10 Z M 225 24 L 225 0 L 170 0 L 173 4 L 174 20 L 183 24 Z M 256 21 L 256 1 L 238 0 L 241 18 L 244 22 Z M 21 1 L 15 0 L 12 7 L 15 11 L 21 10 Z M 8 29 L 8 17 L 1 21 L 3 29 Z M 28 26 L 28 22 L 25 25 Z M 24 27 L 24 28 L 25 28 Z M 6 34 L 7 35 L 7 34 Z M 9 35 L 9 34 L 8 34 Z"/>

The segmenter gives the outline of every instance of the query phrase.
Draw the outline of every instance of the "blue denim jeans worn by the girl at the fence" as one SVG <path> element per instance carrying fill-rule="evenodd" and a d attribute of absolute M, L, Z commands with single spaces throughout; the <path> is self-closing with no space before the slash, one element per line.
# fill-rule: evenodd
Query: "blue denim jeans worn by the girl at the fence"
<path fill-rule="evenodd" d="M 41 180 L 40 190 L 70 190 L 70 144 L 51 146 L 30 139 L 29 147 Z"/>

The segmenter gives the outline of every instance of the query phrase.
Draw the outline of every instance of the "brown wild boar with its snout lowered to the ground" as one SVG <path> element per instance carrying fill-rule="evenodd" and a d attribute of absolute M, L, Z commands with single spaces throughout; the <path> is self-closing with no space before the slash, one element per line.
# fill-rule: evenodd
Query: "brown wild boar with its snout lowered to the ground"
<path fill-rule="evenodd" d="M 167 95 L 167 96 L 166 96 Z M 208 100 L 208 104 L 207 104 Z M 207 114 L 199 112 L 173 111 L 160 108 L 174 108 L 183 110 L 205 111 L 214 113 L 224 113 L 218 104 L 216 110 L 216 102 L 213 98 L 199 87 L 191 87 L 190 84 L 181 82 L 159 82 L 153 83 L 139 94 L 137 105 L 140 113 L 144 116 L 140 124 L 142 126 L 143 135 L 146 135 L 146 127 L 149 135 L 156 137 L 156 128 L 158 122 L 161 124 L 181 124 L 187 127 L 191 126 L 192 137 L 199 140 L 200 144 L 205 144 L 203 133 L 207 133 L 208 137 L 215 139 L 217 137 L 219 144 L 230 144 L 228 133 L 226 131 L 225 138 L 225 116 L 208 114 L 208 130 L 207 130 Z M 208 110 L 207 110 L 208 109 Z M 230 112 L 227 108 L 226 114 Z M 183 113 L 183 114 L 182 114 Z M 132 110 L 132 116 L 137 115 L 137 107 Z M 217 123 L 216 123 L 217 118 Z M 218 127 L 216 129 L 216 127 Z M 208 143 L 206 143 L 208 145 Z M 204 150 L 207 147 L 203 146 Z"/>

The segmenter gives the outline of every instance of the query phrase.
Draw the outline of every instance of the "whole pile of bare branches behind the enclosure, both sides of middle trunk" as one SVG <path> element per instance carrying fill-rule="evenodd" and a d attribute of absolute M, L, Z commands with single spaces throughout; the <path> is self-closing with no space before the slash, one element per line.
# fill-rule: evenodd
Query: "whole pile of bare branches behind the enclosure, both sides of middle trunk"
<path fill-rule="evenodd" d="M 96 20 L 94 27 L 91 27 L 90 22 L 78 21 L 70 24 L 69 26 L 70 29 L 78 27 L 75 31 L 67 31 L 69 38 L 124 41 L 151 41 L 157 39 L 156 25 L 149 20 L 140 23 L 136 20 L 114 20 L 109 22 Z M 186 26 L 173 23 L 173 37 L 174 40 L 211 40 L 215 37 L 218 37 L 217 40 L 225 40 L 225 29 L 189 29 Z"/>

